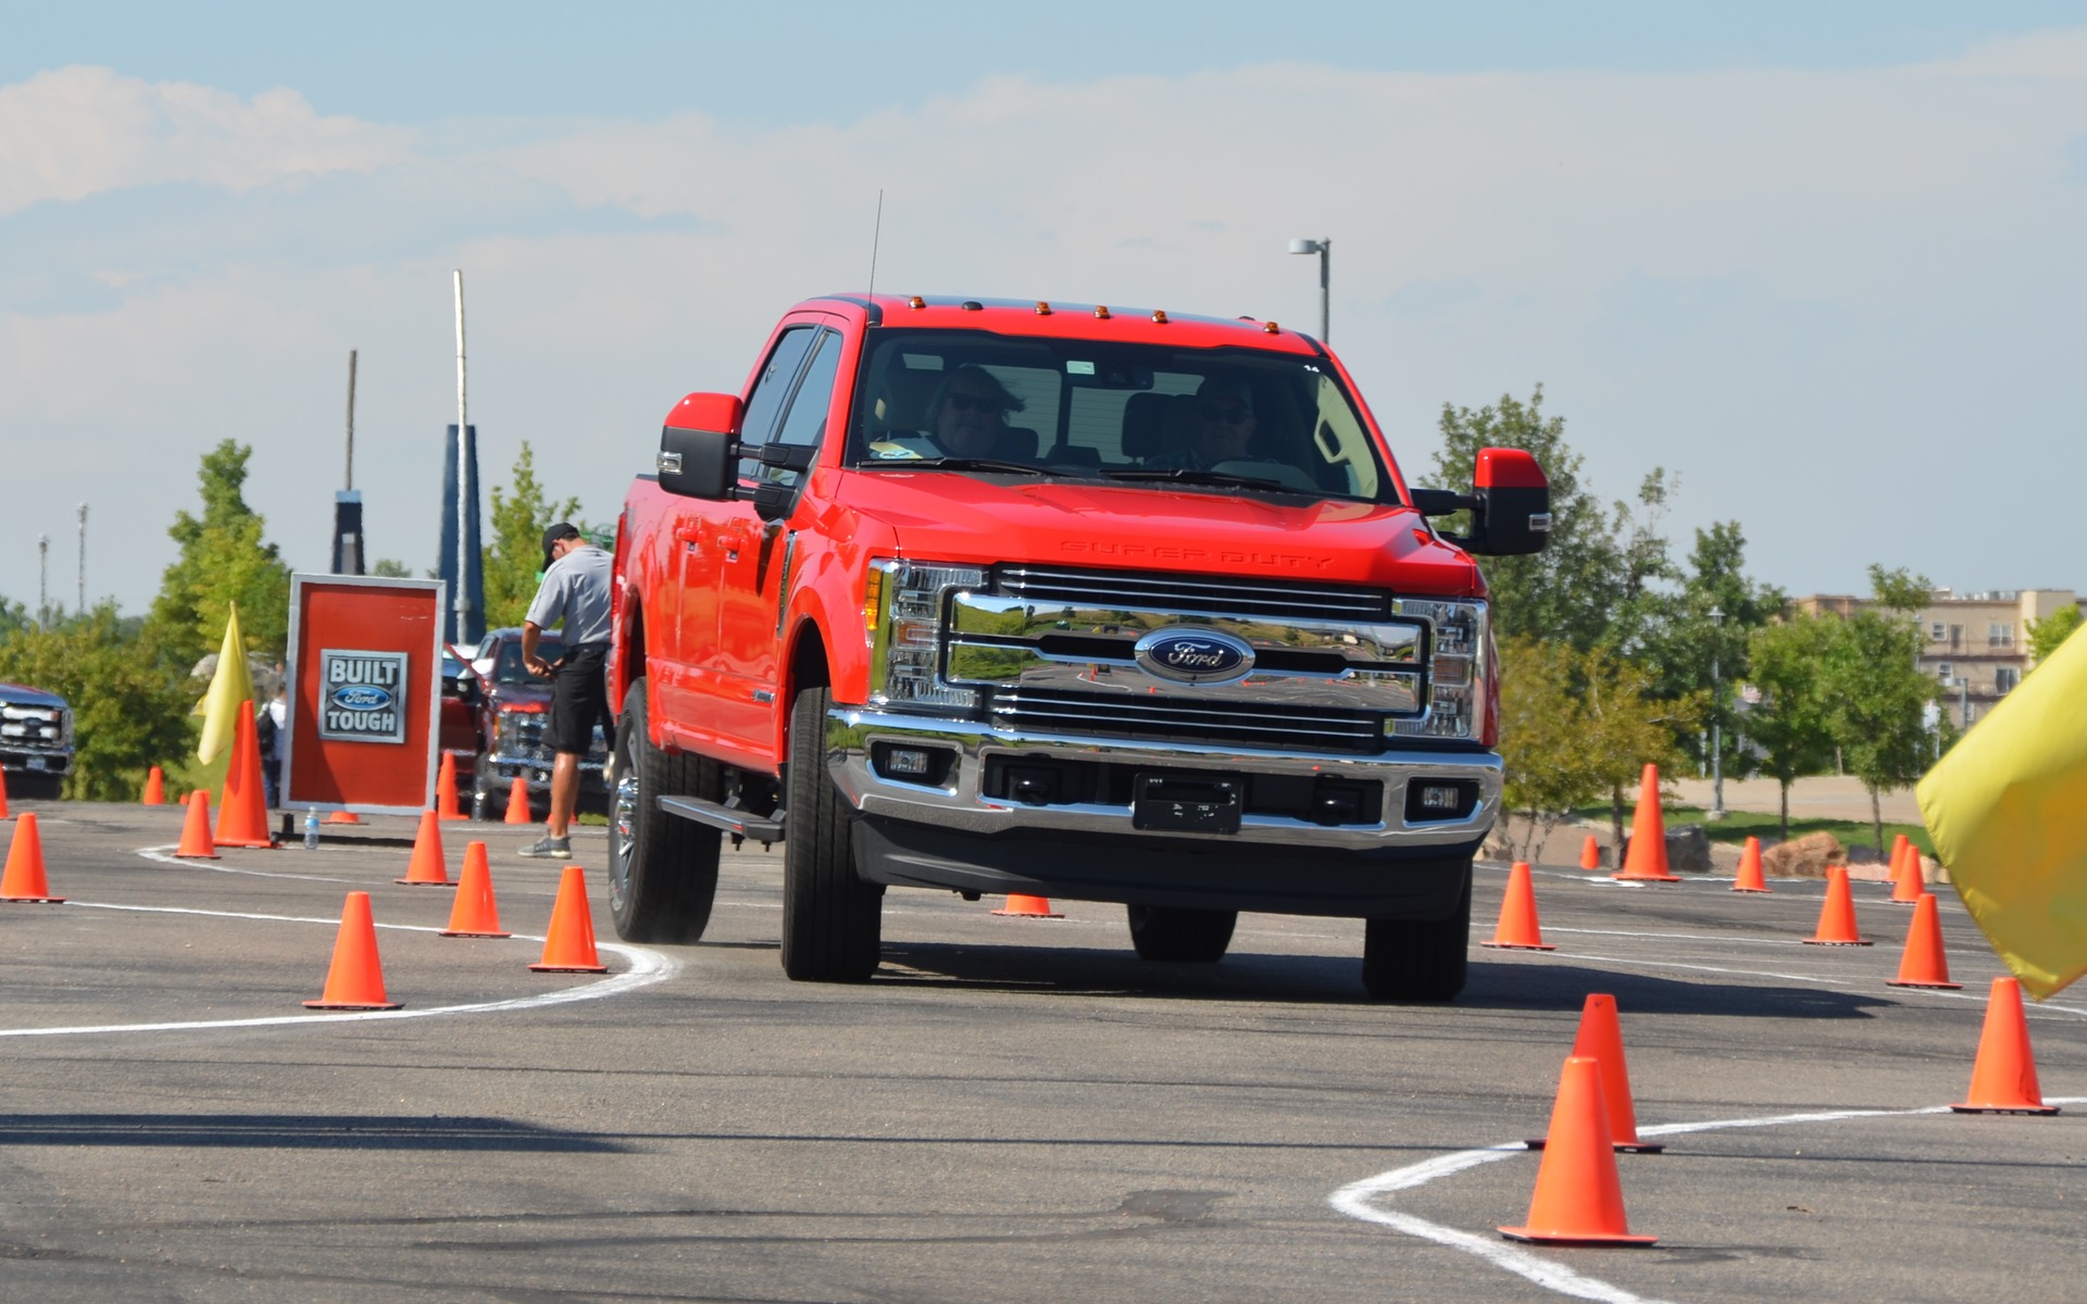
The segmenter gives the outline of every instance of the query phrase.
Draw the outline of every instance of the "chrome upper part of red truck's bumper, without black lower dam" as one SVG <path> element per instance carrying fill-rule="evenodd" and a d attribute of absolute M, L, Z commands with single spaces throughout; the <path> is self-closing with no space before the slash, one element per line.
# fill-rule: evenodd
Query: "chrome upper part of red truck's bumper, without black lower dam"
<path fill-rule="evenodd" d="M 870 747 L 877 743 L 939 743 L 954 747 L 958 762 L 945 787 L 904 782 L 877 774 Z M 1238 832 L 1152 835 L 1131 826 L 1129 805 L 1050 803 L 1025 805 L 983 797 L 979 778 L 987 755 L 1058 757 L 1150 766 L 1154 770 L 1210 770 L 1217 774 L 1298 774 L 1377 780 L 1384 810 L 1367 824 L 1315 824 L 1286 816 L 1246 814 Z M 1501 757 L 1484 751 L 1400 749 L 1380 755 L 1352 753 L 1254 753 L 1221 747 L 1137 743 L 1071 734 L 1000 732 L 968 720 L 897 716 L 866 707 L 833 707 L 826 714 L 826 766 L 835 787 L 866 816 L 933 824 L 952 832 L 1104 832 L 1121 837 L 1202 839 L 1210 843 L 1261 843 L 1269 847 L 1319 847 L 1340 851 L 1388 851 L 1463 847 L 1492 828 L 1501 807 Z M 1407 822 L 1407 782 L 1415 778 L 1461 778 L 1478 782 L 1478 805 L 1455 820 Z"/>

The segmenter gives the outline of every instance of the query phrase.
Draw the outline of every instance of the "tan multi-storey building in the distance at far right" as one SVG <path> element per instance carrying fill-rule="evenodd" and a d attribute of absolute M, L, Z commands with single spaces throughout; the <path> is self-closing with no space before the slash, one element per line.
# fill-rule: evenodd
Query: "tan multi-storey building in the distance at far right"
<path fill-rule="evenodd" d="M 1816 593 L 1791 601 L 1809 615 L 1853 615 L 1874 607 L 1866 597 Z M 1974 724 L 2029 674 L 2029 626 L 2062 607 L 2087 615 L 2070 588 L 1999 588 L 1951 593 L 1937 588 L 1920 609 L 1920 670 L 1943 684 L 1943 707 L 1958 726 Z"/>

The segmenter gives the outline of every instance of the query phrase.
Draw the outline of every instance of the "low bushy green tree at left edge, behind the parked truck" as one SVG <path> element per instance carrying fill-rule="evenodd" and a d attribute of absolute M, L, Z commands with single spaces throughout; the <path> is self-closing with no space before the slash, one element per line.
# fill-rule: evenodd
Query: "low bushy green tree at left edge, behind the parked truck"
<path fill-rule="evenodd" d="M 73 707 L 73 772 L 65 795 L 134 801 L 150 766 L 190 745 L 194 693 L 167 668 L 150 634 L 125 628 L 115 601 L 0 643 L 0 680 L 56 693 Z"/>

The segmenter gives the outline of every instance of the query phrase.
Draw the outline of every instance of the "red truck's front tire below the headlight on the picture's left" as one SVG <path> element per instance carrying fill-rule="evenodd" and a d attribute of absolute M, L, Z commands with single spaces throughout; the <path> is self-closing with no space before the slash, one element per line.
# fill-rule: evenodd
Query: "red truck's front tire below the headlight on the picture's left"
<path fill-rule="evenodd" d="M 826 774 L 826 689 L 789 711 L 783 789 L 783 972 L 799 983 L 868 983 L 881 949 L 883 895 L 856 874 L 854 812 Z"/>

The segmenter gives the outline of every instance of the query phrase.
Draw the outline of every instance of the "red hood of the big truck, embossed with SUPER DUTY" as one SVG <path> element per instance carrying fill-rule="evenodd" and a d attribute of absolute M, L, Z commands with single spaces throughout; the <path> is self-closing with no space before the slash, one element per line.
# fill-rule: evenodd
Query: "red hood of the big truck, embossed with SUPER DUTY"
<path fill-rule="evenodd" d="M 854 472 L 843 501 L 922 561 L 1033 561 L 1484 593 L 1478 565 L 1411 507 L 1294 494 Z"/>

